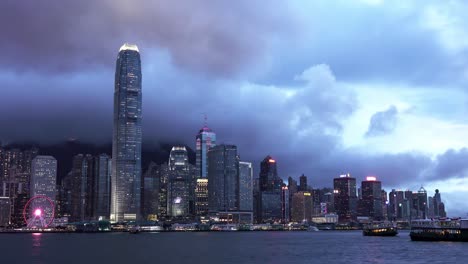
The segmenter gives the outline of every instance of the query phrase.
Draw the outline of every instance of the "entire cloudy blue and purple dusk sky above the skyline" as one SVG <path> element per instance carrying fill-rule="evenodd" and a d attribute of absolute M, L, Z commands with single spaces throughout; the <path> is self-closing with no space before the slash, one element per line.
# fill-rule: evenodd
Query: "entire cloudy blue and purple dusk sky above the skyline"
<path fill-rule="evenodd" d="M 286 3 L 287 2 L 287 3 Z M 351 173 L 468 205 L 468 3 L 2 1 L 0 140 L 112 138 L 115 60 L 135 43 L 144 144 L 208 116 L 241 159 L 314 187 Z"/>

